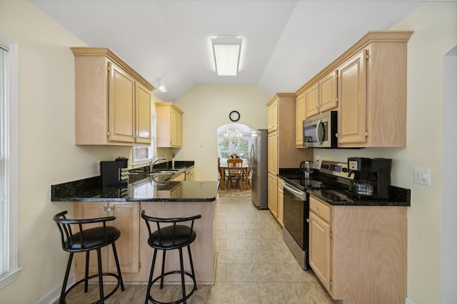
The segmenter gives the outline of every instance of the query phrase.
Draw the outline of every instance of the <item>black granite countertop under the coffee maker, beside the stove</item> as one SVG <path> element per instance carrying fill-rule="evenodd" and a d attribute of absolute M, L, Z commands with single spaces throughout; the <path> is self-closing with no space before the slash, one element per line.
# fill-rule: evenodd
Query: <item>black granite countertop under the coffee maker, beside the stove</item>
<path fill-rule="evenodd" d="M 318 174 L 319 171 L 314 169 L 313 176 Z M 278 177 L 301 179 L 303 173 L 299 168 L 279 168 Z M 411 189 L 396 186 L 390 186 L 388 199 L 357 196 L 348 189 L 306 189 L 306 192 L 334 206 L 411 206 Z"/>

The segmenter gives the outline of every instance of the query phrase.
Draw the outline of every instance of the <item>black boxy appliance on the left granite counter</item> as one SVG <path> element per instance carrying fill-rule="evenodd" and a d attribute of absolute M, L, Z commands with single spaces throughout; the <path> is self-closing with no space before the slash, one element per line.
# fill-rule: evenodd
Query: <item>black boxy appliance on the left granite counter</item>
<path fill-rule="evenodd" d="M 129 183 L 129 159 L 118 157 L 116 160 L 100 162 L 101 186 L 122 186 Z"/>

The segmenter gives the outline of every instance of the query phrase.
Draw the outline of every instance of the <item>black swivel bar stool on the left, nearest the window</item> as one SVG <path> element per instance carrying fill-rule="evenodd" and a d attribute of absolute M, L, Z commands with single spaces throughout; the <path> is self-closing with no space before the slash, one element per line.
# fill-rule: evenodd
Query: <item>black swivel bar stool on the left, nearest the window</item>
<path fill-rule="evenodd" d="M 80 283 L 84 282 L 84 293 L 87 292 L 87 285 L 88 282 L 91 278 L 96 278 L 99 277 L 99 289 L 100 289 L 100 300 L 97 300 L 96 302 L 92 303 L 104 303 L 104 300 L 109 298 L 111 295 L 113 295 L 116 290 L 119 288 L 119 285 L 121 285 L 121 290 L 124 291 L 124 282 L 122 281 L 122 276 L 121 276 L 121 268 L 119 267 L 119 259 L 117 258 L 117 251 L 116 251 L 116 245 L 114 245 L 114 242 L 119 239 L 119 236 L 121 236 L 121 231 L 116 229 L 113 226 L 106 226 L 107 221 L 114 221 L 116 219 L 115 216 L 109 216 L 109 217 L 102 217 L 99 219 L 66 219 L 65 214 L 67 214 L 67 211 L 63 211 L 59 214 L 56 214 L 54 216 L 54 221 L 56 222 L 57 226 L 59 227 L 59 231 L 61 234 L 61 241 L 62 241 L 62 248 L 64 251 L 68 251 L 70 253 L 69 256 L 69 263 L 66 266 L 66 273 L 65 273 L 65 278 L 64 278 L 64 285 L 62 285 L 62 290 L 61 290 L 61 295 L 60 295 L 60 300 L 59 304 L 64 304 L 66 295 L 76 287 L 76 285 L 79 285 Z M 90 229 L 83 229 L 83 225 L 86 224 L 94 224 L 94 223 L 103 223 L 103 226 L 95 227 L 95 228 L 90 228 Z M 71 226 L 78 226 L 79 227 L 79 232 L 76 234 L 73 234 L 71 231 Z M 109 244 L 112 244 L 113 246 L 113 253 L 114 253 L 114 259 L 116 260 L 116 268 L 117 268 L 117 274 L 116 273 L 103 273 L 101 270 L 101 248 L 104 246 L 108 246 Z M 96 250 L 97 251 L 97 258 L 99 262 L 99 273 L 89 276 L 89 252 L 91 250 Z M 66 288 L 66 283 L 69 280 L 69 273 L 70 273 L 70 268 L 71 268 L 71 261 L 73 260 L 73 255 L 75 252 L 84 252 L 86 251 L 86 274 L 84 278 L 73 285 L 69 288 L 69 290 L 65 291 Z M 103 292 L 103 276 L 114 276 L 117 278 L 117 285 L 114 290 L 109 293 L 109 295 L 104 295 Z"/>

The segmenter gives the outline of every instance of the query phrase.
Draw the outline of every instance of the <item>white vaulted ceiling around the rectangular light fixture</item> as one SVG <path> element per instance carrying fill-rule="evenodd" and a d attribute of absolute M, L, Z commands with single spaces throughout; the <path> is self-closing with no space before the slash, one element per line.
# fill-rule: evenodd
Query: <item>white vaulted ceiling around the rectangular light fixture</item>
<path fill-rule="evenodd" d="M 88 46 L 111 48 L 174 102 L 194 85 L 295 92 L 368 31 L 424 3 L 317 0 L 30 0 Z M 407 28 L 406 28 L 407 29 Z M 243 38 L 237 76 L 217 76 L 211 37 Z"/>

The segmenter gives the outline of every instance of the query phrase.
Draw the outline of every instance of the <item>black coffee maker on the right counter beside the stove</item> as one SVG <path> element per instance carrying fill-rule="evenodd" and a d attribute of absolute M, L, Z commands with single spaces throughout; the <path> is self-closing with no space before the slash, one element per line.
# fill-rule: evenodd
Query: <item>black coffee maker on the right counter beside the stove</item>
<path fill-rule="evenodd" d="M 348 177 L 354 174 L 349 191 L 358 196 L 388 199 L 392 159 L 348 157 Z"/>

